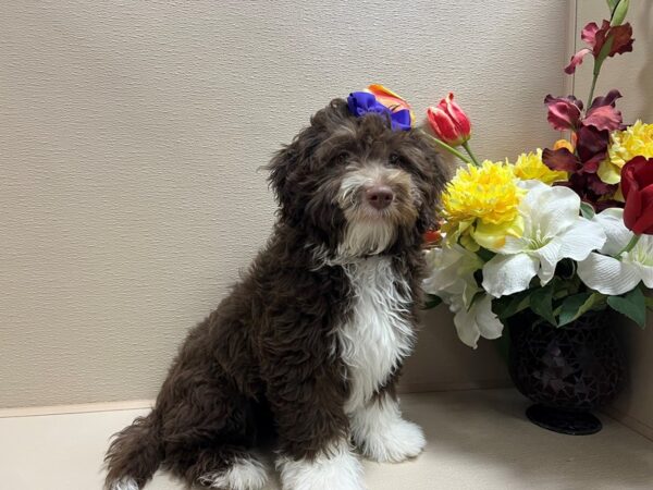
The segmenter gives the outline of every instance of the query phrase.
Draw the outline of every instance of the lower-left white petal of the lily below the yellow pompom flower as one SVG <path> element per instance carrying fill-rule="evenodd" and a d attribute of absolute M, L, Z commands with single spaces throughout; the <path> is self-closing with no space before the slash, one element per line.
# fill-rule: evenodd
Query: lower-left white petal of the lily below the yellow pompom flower
<path fill-rule="evenodd" d="M 483 289 L 494 297 L 528 289 L 539 261 L 528 254 L 497 255 L 483 267 Z"/>

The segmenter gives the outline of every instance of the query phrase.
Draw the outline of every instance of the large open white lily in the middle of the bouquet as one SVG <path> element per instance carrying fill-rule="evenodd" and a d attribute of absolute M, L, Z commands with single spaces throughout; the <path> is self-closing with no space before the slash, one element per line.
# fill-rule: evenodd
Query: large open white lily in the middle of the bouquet
<path fill-rule="evenodd" d="M 527 290 L 535 275 L 545 285 L 562 259 L 584 260 L 605 243 L 603 229 L 579 216 L 580 198 L 574 191 L 538 181 L 519 185 L 528 189 L 519 204 L 523 234 L 507 236 L 483 267 L 483 287 L 494 297 Z"/>

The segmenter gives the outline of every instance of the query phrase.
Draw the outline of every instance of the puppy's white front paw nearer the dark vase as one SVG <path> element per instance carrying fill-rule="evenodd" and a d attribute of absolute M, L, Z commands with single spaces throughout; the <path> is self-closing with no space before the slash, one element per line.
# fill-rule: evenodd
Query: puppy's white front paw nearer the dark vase
<path fill-rule="evenodd" d="M 424 433 L 417 424 L 397 418 L 383 430 L 368 432 L 360 441 L 362 454 L 380 463 L 399 463 L 424 449 Z"/>

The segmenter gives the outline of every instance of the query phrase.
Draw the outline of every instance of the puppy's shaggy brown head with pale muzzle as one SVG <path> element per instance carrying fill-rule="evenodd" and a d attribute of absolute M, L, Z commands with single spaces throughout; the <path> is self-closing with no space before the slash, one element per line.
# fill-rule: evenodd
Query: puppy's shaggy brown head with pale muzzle
<path fill-rule="evenodd" d="M 433 224 L 446 181 L 418 131 L 392 131 L 379 114 L 353 117 L 334 99 L 269 166 L 280 220 L 331 257 L 417 245 Z"/>

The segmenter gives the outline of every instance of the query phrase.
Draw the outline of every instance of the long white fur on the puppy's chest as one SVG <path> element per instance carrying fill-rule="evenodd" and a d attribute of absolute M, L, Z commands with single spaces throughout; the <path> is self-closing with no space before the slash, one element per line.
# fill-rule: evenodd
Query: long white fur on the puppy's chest
<path fill-rule="evenodd" d="M 410 292 L 389 258 L 370 257 L 345 267 L 352 281 L 353 315 L 338 331 L 350 384 L 347 413 L 361 407 L 385 383 L 412 347 L 405 314 Z"/>

